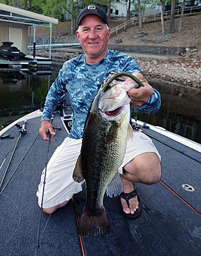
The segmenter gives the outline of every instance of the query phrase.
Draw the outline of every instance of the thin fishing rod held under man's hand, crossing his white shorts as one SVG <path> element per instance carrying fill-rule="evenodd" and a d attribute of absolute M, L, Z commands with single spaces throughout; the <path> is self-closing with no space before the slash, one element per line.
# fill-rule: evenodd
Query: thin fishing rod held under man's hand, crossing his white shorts
<path fill-rule="evenodd" d="M 51 117 L 51 124 L 52 123 L 53 123 L 53 115 Z M 35 253 L 36 256 L 38 255 L 38 248 L 40 247 L 39 240 L 40 240 L 41 216 L 42 216 L 42 210 L 43 210 L 42 205 L 43 205 L 43 198 L 44 198 L 44 192 L 45 192 L 45 183 L 46 183 L 47 166 L 48 166 L 48 160 L 49 160 L 49 151 L 50 151 L 50 146 L 51 146 L 51 133 L 49 131 L 47 131 L 46 133 L 47 133 L 47 136 L 49 137 L 49 142 L 48 142 L 48 152 L 47 152 L 47 159 L 46 159 L 46 163 L 45 163 L 45 173 L 44 173 L 44 181 L 43 181 L 43 188 L 42 188 L 40 219 L 39 219 L 39 224 L 38 224 L 38 235 L 37 235 L 37 244 L 36 244 L 36 253 Z"/>

